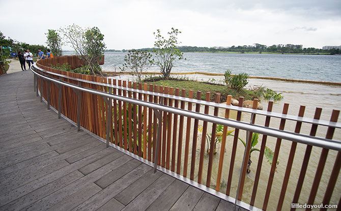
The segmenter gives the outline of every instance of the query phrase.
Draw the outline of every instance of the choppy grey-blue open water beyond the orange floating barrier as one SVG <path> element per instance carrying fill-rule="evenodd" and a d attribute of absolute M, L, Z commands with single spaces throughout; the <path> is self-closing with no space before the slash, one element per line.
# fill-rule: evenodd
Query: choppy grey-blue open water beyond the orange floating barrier
<path fill-rule="evenodd" d="M 122 67 L 123 52 L 105 52 L 104 71 Z M 251 76 L 271 76 L 318 81 L 341 82 L 341 56 L 238 54 L 238 53 L 184 53 L 186 61 L 177 61 L 173 72 L 246 72 Z M 159 71 L 152 67 L 151 71 Z M 117 71 L 120 71 L 117 68 Z"/>

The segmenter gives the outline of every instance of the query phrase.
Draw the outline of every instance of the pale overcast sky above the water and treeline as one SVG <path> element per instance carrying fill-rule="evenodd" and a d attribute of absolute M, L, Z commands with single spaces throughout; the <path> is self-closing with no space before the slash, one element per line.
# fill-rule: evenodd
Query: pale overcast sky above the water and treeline
<path fill-rule="evenodd" d="M 187 46 L 341 45 L 340 0 L 0 0 L 0 8 L 0 31 L 29 44 L 46 45 L 47 29 L 75 23 L 99 27 L 107 49 L 119 50 L 153 47 L 153 32 L 172 27 Z"/>

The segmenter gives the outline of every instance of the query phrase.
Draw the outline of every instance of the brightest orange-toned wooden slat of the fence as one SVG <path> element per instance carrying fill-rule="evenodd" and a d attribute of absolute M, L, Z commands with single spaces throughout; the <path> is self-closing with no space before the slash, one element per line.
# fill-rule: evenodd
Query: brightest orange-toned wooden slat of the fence
<path fill-rule="evenodd" d="M 231 105 L 231 98 L 232 96 L 228 95 L 228 98 L 226 99 L 226 105 Z M 225 118 L 230 118 L 230 109 L 225 109 Z M 220 190 L 222 165 L 224 163 L 224 154 L 225 154 L 226 134 L 228 134 L 228 126 L 224 126 L 222 130 L 220 157 L 219 157 L 218 174 L 217 174 L 217 184 L 215 187 L 216 191 Z"/>

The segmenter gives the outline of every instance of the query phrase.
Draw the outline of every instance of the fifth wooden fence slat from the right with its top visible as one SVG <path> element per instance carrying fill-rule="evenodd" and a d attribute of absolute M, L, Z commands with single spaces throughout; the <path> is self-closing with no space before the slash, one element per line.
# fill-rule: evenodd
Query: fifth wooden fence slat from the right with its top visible
<path fill-rule="evenodd" d="M 273 106 L 273 101 L 269 101 L 268 110 L 267 110 L 268 112 L 272 111 L 272 106 Z M 270 125 L 270 116 L 266 116 L 264 126 L 269 127 L 269 125 Z M 257 194 L 258 183 L 259 183 L 259 178 L 260 178 L 261 170 L 262 170 L 263 155 L 264 155 L 264 151 L 265 151 L 267 137 L 268 137 L 267 135 L 263 135 L 263 138 L 262 138 L 261 151 L 259 153 L 257 170 L 256 170 L 256 174 L 254 177 L 254 184 L 253 184 L 252 195 L 251 195 L 251 200 L 250 200 L 250 204 L 252 206 L 254 205 L 255 196 Z"/>

